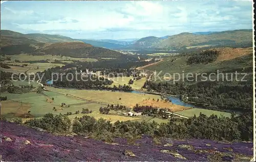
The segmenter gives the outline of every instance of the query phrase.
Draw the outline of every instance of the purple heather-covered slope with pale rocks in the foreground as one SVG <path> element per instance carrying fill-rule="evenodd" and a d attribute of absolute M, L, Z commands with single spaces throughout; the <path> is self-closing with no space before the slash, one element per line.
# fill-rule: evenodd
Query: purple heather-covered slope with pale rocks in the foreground
<path fill-rule="evenodd" d="M 155 144 L 146 136 L 134 145 L 127 144 L 123 138 L 114 141 L 110 144 L 80 136 L 54 136 L 1 121 L 1 156 L 4 161 L 248 161 L 253 155 L 252 143 L 164 139 Z"/>

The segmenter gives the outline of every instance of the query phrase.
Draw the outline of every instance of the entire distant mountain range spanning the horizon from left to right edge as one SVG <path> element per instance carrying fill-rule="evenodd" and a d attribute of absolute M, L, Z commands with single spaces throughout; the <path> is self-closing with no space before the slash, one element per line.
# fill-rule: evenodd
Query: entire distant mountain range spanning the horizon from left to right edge
<path fill-rule="evenodd" d="M 223 32 L 180 33 L 172 36 L 145 37 L 141 39 L 72 39 L 61 35 L 22 34 L 9 30 L 1 30 L 1 47 L 20 44 L 84 42 L 94 47 L 109 49 L 150 49 L 179 50 L 212 46 L 250 47 L 252 46 L 252 30 L 234 30 Z"/>

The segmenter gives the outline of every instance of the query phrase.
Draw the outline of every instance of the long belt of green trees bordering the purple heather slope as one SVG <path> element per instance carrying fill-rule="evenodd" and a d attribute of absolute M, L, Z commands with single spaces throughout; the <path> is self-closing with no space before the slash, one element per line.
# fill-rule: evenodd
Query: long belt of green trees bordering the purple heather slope
<path fill-rule="evenodd" d="M 71 121 L 67 116 L 46 114 L 41 119 L 27 121 L 29 126 L 40 127 L 50 131 L 71 131 Z M 112 137 L 134 138 L 141 134 L 175 139 L 209 139 L 227 141 L 249 141 L 253 138 L 252 113 L 240 116 L 217 117 L 200 114 L 175 123 L 170 118 L 168 123 L 117 121 L 114 124 L 103 119 L 96 120 L 90 116 L 75 118 L 72 131 L 99 140 L 111 140 Z"/>

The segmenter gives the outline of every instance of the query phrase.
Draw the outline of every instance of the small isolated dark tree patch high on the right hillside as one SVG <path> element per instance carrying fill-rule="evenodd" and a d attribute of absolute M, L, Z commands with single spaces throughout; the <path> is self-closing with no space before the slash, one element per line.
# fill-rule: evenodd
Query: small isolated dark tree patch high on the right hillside
<path fill-rule="evenodd" d="M 211 63 L 218 57 L 219 52 L 217 50 L 203 50 L 198 53 L 190 53 L 187 59 L 187 64 L 199 64 L 199 63 Z"/>

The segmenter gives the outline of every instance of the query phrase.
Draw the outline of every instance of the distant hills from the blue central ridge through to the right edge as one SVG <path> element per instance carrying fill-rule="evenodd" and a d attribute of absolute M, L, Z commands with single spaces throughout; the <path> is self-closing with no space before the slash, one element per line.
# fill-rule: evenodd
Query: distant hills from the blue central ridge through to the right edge
<path fill-rule="evenodd" d="M 134 41 L 83 40 L 85 43 L 111 49 L 190 49 L 212 46 L 249 47 L 252 46 L 252 30 L 224 32 L 180 33 L 173 36 L 145 37 Z"/>

